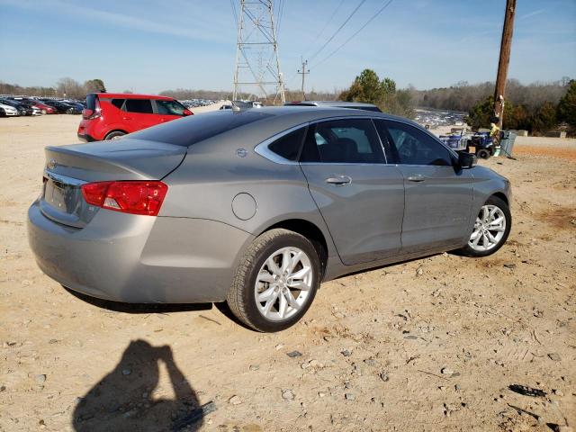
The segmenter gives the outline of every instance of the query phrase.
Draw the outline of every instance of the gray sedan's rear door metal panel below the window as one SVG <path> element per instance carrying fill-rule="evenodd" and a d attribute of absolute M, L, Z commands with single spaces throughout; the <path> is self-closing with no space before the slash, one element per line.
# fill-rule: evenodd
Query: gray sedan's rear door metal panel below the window
<path fill-rule="evenodd" d="M 404 184 L 397 166 L 305 163 L 302 171 L 345 264 L 400 252 Z M 327 183 L 338 176 L 350 183 Z"/>

